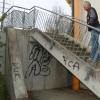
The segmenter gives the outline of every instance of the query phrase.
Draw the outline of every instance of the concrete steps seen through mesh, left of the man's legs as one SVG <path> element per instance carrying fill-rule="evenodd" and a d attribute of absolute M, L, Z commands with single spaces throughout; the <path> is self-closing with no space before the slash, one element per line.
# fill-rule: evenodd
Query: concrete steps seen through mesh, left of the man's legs
<path fill-rule="evenodd" d="M 86 47 L 82 46 L 81 43 L 74 41 L 69 35 L 58 35 L 47 33 L 50 37 L 52 37 L 55 41 L 59 42 L 61 45 L 66 47 L 68 50 L 71 50 L 74 54 L 76 54 L 81 59 L 87 61 L 90 55 L 90 52 Z"/>

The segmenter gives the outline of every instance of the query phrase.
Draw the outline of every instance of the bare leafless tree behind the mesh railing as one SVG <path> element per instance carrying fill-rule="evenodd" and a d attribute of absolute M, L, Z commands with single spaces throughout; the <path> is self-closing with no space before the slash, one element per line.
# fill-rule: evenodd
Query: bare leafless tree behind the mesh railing
<path fill-rule="evenodd" d="M 62 16 L 59 16 L 58 14 L 62 15 L 62 9 L 60 7 L 54 7 L 52 9 L 53 12 L 48 17 L 46 21 L 46 31 L 50 33 L 59 33 L 59 25 L 62 19 Z"/>

